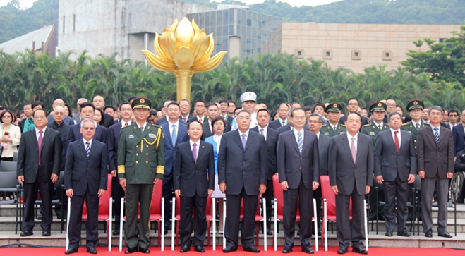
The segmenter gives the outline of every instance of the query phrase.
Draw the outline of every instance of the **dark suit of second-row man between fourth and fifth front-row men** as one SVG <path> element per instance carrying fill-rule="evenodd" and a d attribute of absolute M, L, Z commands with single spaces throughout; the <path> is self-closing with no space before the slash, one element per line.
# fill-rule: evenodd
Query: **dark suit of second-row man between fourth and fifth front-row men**
<path fill-rule="evenodd" d="M 260 133 L 260 126 L 250 128 L 255 133 Z M 267 141 L 267 156 L 268 156 L 268 172 L 267 172 L 267 190 L 263 193 L 262 197 L 265 198 L 267 203 L 267 228 L 270 228 L 271 212 L 272 212 L 272 200 L 273 200 L 273 175 L 277 173 L 276 154 L 277 145 L 279 139 L 279 132 L 273 130 L 268 126 L 265 134 L 265 140 Z M 265 233 L 265 232 L 263 232 Z"/>

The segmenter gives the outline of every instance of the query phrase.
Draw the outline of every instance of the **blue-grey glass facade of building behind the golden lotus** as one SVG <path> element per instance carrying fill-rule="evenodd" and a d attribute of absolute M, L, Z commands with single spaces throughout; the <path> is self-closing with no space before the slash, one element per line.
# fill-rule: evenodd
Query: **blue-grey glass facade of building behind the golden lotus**
<path fill-rule="evenodd" d="M 282 18 L 240 8 L 188 14 L 207 35 L 213 33 L 215 51 L 229 51 L 229 37 L 240 38 L 241 58 L 281 51 Z M 229 59 L 229 54 L 225 59 Z"/>

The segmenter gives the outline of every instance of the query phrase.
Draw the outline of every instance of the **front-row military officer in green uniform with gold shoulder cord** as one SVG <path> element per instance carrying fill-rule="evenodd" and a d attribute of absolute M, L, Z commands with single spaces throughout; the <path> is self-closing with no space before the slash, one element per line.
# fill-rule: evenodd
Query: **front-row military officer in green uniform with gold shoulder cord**
<path fill-rule="evenodd" d="M 137 98 L 131 106 L 135 123 L 123 128 L 118 140 L 118 178 L 126 191 L 125 239 L 128 250 L 124 253 L 150 253 L 150 204 L 154 184 L 163 180 L 164 140 L 162 128 L 147 123 L 152 108 L 150 99 Z"/>

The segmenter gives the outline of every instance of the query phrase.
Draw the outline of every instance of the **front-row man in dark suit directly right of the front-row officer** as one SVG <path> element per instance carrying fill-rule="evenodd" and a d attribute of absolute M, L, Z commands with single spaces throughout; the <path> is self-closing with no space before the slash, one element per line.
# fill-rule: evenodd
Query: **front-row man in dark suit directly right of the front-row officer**
<path fill-rule="evenodd" d="M 215 189 L 215 159 L 213 145 L 200 140 L 202 123 L 192 121 L 188 123 L 188 142 L 176 147 L 176 159 L 173 168 L 174 195 L 180 201 L 181 221 L 179 236 L 181 250 L 191 250 L 192 211 L 194 211 L 194 250 L 205 252 L 203 241 L 207 231 L 207 197 Z"/>

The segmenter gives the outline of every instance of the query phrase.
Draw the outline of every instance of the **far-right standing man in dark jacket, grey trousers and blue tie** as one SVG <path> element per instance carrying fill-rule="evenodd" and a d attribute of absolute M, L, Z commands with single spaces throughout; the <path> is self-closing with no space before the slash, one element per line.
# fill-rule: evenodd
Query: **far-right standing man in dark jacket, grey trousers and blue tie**
<path fill-rule="evenodd" d="M 440 127 L 442 109 L 431 106 L 428 110 L 430 126 L 418 130 L 418 176 L 421 178 L 421 217 L 423 232 L 433 236 L 431 198 L 437 193 L 437 235 L 452 238 L 447 233 L 447 193 L 449 179 L 454 175 L 454 136 L 452 131 Z M 454 129 L 455 130 L 455 129 Z"/>

